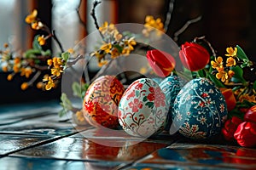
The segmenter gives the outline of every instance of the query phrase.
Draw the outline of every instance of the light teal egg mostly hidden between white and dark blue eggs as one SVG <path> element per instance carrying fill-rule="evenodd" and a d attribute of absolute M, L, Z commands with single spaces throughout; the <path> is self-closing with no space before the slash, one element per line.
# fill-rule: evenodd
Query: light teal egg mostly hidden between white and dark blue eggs
<path fill-rule="evenodd" d="M 162 82 L 160 82 L 160 88 L 162 89 L 163 93 L 166 94 L 166 102 L 167 105 L 169 105 L 169 111 L 166 117 L 166 130 L 169 130 L 172 124 L 174 100 L 185 83 L 186 81 L 183 78 L 177 77 L 176 75 L 166 77 Z"/>

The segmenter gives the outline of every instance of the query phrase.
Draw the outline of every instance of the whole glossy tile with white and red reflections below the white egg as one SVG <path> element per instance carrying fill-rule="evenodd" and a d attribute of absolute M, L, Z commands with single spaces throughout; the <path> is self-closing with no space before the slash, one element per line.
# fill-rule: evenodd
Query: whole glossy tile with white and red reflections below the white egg
<path fill-rule="evenodd" d="M 107 144 L 111 144 L 111 146 Z M 113 147 L 113 144 L 118 147 Z M 134 161 L 165 146 L 166 144 L 163 143 L 137 140 L 64 138 L 16 152 L 12 156 L 54 157 L 87 161 Z"/>

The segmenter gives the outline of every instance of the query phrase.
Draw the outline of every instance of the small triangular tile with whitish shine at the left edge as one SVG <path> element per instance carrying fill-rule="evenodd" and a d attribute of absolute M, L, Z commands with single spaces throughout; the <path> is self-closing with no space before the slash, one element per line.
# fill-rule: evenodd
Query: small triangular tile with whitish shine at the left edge
<path fill-rule="evenodd" d="M 0 155 L 6 155 L 15 150 L 20 150 L 38 144 L 49 137 L 31 136 L 31 135 L 16 135 L 16 134 L 0 134 Z"/>

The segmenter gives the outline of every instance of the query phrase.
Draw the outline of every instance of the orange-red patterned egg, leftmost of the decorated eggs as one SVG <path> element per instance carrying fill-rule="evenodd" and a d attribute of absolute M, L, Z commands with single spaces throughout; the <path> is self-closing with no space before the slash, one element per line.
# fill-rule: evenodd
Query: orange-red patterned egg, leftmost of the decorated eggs
<path fill-rule="evenodd" d="M 84 117 L 94 127 L 118 127 L 118 105 L 125 88 L 114 76 L 102 76 L 90 84 L 84 101 Z"/>

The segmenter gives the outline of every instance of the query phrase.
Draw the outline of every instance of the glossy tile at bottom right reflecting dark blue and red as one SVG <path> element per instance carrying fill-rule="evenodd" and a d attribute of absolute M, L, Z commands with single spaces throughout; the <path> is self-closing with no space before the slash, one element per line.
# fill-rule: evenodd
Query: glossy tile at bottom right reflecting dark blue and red
<path fill-rule="evenodd" d="M 256 168 L 256 150 L 213 144 L 172 144 L 154 151 L 140 164 L 165 164 L 204 168 Z"/>

